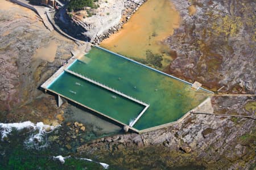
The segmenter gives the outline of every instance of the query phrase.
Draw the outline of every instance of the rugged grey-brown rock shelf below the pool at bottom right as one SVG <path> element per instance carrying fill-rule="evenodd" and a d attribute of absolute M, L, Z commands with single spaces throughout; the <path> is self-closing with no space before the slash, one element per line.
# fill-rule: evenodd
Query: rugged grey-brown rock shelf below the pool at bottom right
<path fill-rule="evenodd" d="M 255 114 L 255 108 L 246 107 L 255 103 L 254 97 L 218 96 L 211 103 L 216 113 Z M 96 139 L 77 151 L 80 155 L 97 155 L 98 159 L 127 169 L 147 167 L 148 163 L 150 168 L 247 169 L 255 163 L 255 125 L 250 118 L 191 114 L 166 129 Z"/>

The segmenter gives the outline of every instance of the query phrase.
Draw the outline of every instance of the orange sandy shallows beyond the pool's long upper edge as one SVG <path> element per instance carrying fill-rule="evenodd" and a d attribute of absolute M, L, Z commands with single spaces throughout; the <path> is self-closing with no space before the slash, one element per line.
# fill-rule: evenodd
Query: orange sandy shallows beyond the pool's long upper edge
<path fill-rule="evenodd" d="M 168 46 L 162 41 L 173 35 L 180 24 L 179 12 L 170 0 L 148 0 L 131 17 L 123 28 L 101 42 L 101 46 L 128 57 L 146 58 L 146 50 L 162 53 L 171 59 Z M 168 63 L 163 66 L 168 65 Z"/>

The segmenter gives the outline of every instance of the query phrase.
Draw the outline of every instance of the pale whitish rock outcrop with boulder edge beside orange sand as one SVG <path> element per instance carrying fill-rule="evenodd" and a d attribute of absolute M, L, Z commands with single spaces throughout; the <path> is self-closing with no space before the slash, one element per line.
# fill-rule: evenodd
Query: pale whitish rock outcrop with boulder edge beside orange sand
<path fill-rule="evenodd" d="M 138 7 L 146 0 L 110 0 L 97 2 L 99 7 L 90 17 L 81 18 L 80 11 L 74 12 L 72 21 L 85 29 L 84 36 L 93 44 L 99 44 L 122 28 Z"/>

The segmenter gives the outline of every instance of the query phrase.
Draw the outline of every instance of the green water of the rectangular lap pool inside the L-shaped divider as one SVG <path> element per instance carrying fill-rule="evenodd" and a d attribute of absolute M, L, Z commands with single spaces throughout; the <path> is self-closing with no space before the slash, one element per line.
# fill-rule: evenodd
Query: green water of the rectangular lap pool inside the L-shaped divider
<path fill-rule="evenodd" d="M 67 72 L 48 88 L 126 125 L 144 109 L 141 104 Z"/>

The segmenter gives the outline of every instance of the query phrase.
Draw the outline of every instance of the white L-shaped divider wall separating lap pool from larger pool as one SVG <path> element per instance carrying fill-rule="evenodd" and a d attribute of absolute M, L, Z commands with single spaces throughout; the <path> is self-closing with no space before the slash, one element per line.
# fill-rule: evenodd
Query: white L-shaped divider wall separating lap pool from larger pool
<path fill-rule="evenodd" d="M 128 95 L 126 95 L 126 94 L 123 94 L 122 92 L 119 92 L 119 91 L 117 91 L 117 90 L 114 90 L 113 88 L 108 87 L 108 86 L 105 86 L 104 84 L 101 84 L 101 83 L 99 83 L 99 82 L 96 82 L 95 80 L 92 80 L 92 79 L 90 79 L 90 78 L 88 78 L 88 77 L 86 77 L 86 76 L 83 76 L 83 75 L 81 75 L 81 74 L 75 73 L 74 71 L 67 70 L 67 69 L 65 69 L 64 71 L 66 71 L 66 72 L 69 73 L 69 74 L 78 76 L 79 78 L 84 79 L 84 80 L 86 80 L 86 81 L 88 81 L 88 82 L 90 82 L 90 83 L 96 84 L 97 86 L 100 86 L 100 87 L 102 87 L 102 88 L 105 88 L 106 90 L 112 91 L 112 92 L 114 92 L 115 94 L 118 94 L 118 95 L 120 95 L 120 96 L 122 96 L 122 97 L 125 97 L 125 98 L 129 99 L 129 100 L 132 100 L 132 101 L 134 101 L 135 103 L 139 103 L 139 104 L 141 104 L 141 105 L 144 105 L 145 108 L 143 109 L 143 111 L 142 111 L 141 113 L 139 113 L 139 116 L 137 116 L 137 118 L 135 118 L 135 120 L 129 125 L 130 127 L 133 127 L 133 125 L 139 120 L 139 118 L 142 116 L 142 114 L 143 114 L 144 112 L 146 112 L 146 110 L 148 109 L 148 107 L 150 107 L 149 104 L 146 104 L 146 103 L 144 103 L 143 101 L 137 100 L 137 99 L 135 99 L 134 97 L 128 96 Z"/>

